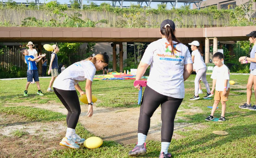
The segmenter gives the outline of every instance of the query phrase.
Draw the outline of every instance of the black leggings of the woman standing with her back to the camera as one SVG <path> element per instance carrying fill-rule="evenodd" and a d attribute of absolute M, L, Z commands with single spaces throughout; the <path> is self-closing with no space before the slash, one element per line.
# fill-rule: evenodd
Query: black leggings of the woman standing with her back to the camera
<path fill-rule="evenodd" d="M 150 118 L 161 104 L 161 142 L 171 142 L 174 118 L 183 99 L 164 96 L 146 86 L 139 113 L 138 133 L 147 135 Z"/>

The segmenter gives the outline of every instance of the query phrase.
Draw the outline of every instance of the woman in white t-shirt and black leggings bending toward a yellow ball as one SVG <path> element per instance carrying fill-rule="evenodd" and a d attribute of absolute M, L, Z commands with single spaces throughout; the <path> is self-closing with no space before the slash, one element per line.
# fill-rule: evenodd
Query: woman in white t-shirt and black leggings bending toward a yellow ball
<path fill-rule="evenodd" d="M 89 102 L 88 117 L 93 113 L 92 102 L 92 80 L 96 70 L 103 70 L 109 64 L 109 58 L 105 54 L 97 54 L 95 57 L 89 57 L 83 61 L 76 62 L 65 69 L 53 83 L 53 90 L 58 96 L 62 104 L 68 110 L 66 116 L 67 131 L 66 136 L 60 142 L 60 145 L 70 148 L 79 148 L 85 139 L 82 139 L 75 132 L 76 124 L 78 123 L 81 113 L 80 103 L 76 90 L 80 96 L 87 96 Z M 84 92 L 78 82 L 86 80 Z"/>

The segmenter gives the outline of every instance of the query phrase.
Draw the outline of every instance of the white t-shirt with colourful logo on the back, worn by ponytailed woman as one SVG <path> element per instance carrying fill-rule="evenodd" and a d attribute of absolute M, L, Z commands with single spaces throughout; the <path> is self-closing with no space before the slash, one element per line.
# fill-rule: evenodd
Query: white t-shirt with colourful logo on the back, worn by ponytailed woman
<path fill-rule="evenodd" d="M 192 59 L 187 46 L 179 43 L 174 47 L 181 52 L 172 55 L 166 38 L 154 41 L 147 46 L 141 62 L 150 65 L 147 86 L 165 96 L 184 98 L 184 65 L 192 64 Z"/>

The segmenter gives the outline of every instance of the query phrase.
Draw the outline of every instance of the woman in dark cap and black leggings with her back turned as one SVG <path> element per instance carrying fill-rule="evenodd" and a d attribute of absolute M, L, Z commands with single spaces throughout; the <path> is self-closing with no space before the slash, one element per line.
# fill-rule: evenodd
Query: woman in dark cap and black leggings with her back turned
<path fill-rule="evenodd" d="M 166 19 L 160 26 L 161 39 L 152 42 L 139 63 L 136 80 L 140 80 L 150 65 L 147 86 L 141 102 L 138 143 L 128 155 L 146 153 L 146 137 L 150 118 L 161 104 L 161 152 L 159 158 L 171 157 L 168 148 L 172 139 L 174 118 L 185 96 L 184 81 L 190 76 L 193 65 L 188 47 L 175 37 L 175 24 Z M 135 88 L 140 88 L 139 85 Z"/>

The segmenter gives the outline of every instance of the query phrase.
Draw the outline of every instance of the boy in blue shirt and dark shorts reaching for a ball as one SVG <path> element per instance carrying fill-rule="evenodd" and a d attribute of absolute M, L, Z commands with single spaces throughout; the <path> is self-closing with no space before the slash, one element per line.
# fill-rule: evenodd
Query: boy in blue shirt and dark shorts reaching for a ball
<path fill-rule="evenodd" d="M 29 84 L 34 80 L 36 81 L 37 89 L 38 92 L 37 94 L 40 96 L 43 96 L 44 94 L 42 93 L 40 89 L 40 84 L 39 84 L 39 76 L 38 76 L 38 71 L 36 67 L 36 62 L 39 62 L 46 54 L 39 55 L 38 57 L 34 58 L 34 56 L 29 56 L 28 49 L 22 48 L 21 53 L 25 56 L 26 63 L 28 64 L 28 71 L 27 71 L 27 84 L 26 88 L 24 91 L 24 96 L 28 96 L 28 86 Z"/>

